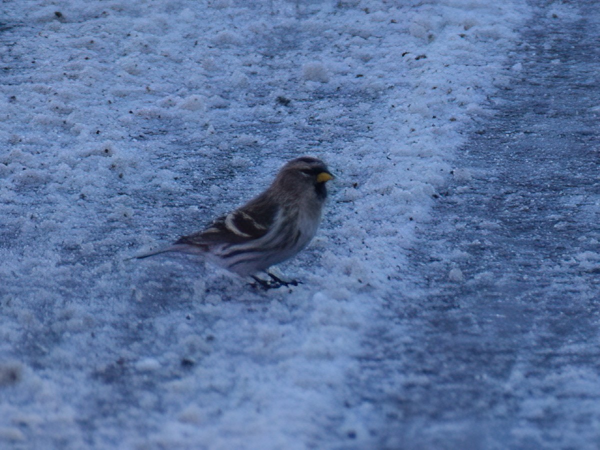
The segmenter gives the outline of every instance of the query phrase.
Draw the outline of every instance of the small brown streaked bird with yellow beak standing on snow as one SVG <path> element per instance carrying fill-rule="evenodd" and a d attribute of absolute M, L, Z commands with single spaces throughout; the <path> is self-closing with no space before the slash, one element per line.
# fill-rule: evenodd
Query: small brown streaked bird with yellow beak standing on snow
<path fill-rule="evenodd" d="M 169 251 L 202 255 L 235 274 L 253 277 L 265 289 L 296 285 L 297 281 L 288 283 L 267 269 L 295 256 L 313 238 L 327 197 L 325 183 L 331 179 L 334 176 L 317 158 L 291 160 L 271 186 L 245 205 L 170 247 L 136 258 Z M 256 277 L 262 271 L 272 281 Z"/>

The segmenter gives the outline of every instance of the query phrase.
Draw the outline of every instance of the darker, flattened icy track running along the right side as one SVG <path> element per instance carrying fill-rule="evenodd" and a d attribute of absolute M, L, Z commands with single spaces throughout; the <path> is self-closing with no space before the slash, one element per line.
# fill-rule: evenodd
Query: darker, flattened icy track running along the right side
<path fill-rule="evenodd" d="M 536 8 L 522 70 L 419 230 L 417 293 L 368 340 L 361 392 L 387 414 L 386 448 L 598 442 L 600 14 Z"/>

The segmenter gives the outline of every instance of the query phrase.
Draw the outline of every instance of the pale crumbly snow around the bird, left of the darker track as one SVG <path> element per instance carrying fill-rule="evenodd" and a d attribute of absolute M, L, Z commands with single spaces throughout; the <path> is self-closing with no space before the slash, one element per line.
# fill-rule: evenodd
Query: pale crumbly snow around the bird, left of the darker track
<path fill-rule="evenodd" d="M 389 412 L 349 386 L 374 356 L 365 336 L 403 340 L 380 311 L 410 301 L 415 229 L 453 169 L 472 176 L 455 151 L 521 70 L 529 15 L 518 1 L 2 4 L 0 446 L 394 447 Z M 126 260 L 304 154 L 337 176 L 317 238 L 282 265 L 304 284 L 263 293 L 191 257 Z M 598 254 L 574 263 L 596 270 Z M 411 376 L 424 382 L 389 374 Z"/>

